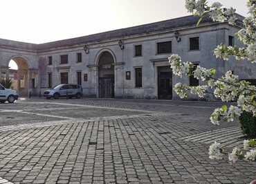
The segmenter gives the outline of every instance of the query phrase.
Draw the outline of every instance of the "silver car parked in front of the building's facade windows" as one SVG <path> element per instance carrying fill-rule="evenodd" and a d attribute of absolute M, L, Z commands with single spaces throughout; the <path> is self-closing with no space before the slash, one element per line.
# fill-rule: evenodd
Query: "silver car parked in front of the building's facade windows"
<path fill-rule="evenodd" d="M 82 86 L 77 84 L 59 84 L 55 86 L 53 89 L 44 91 L 44 97 L 55 99 L 58 99 L 60 97 L 81 98 Z"/>

